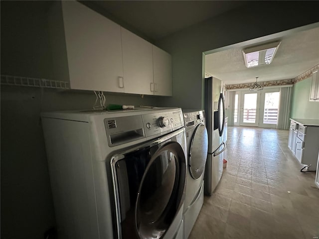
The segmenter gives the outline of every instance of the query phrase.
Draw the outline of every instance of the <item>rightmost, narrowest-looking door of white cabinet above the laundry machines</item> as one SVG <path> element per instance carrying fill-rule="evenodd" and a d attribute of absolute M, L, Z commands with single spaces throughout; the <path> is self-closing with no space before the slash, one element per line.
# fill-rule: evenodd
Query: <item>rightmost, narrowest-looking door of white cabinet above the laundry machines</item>
<path fill-rule="evenodd" d="M 172 96 L 171 56 L 153 45 L 154 84 L 158 96 Z"/>

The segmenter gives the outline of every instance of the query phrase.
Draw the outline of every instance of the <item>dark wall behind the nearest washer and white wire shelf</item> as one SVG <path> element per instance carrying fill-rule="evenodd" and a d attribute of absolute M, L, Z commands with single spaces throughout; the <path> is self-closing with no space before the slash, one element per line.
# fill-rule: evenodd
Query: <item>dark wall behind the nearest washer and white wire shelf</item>
<path fill-rule="evenodd" d="M 1 74 L 53 79 L 51 2 L 1 1 Z M 162 97 L 106 94 L 107 103 L 157 105 Z M 91 109 L 93 92 L 1 85 L 1 239 L 43 239 L 55 226 L 40 112 Z"/>

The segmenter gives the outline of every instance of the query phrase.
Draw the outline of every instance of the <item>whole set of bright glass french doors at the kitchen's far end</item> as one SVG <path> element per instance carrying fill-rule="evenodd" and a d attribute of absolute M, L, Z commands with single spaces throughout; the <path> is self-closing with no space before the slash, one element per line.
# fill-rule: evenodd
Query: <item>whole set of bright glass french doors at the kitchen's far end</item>
<path fill-rule="evenodd" d="M 234 124 L 241 126 L 277 126 L 280 89 L 235 94 Z"/>

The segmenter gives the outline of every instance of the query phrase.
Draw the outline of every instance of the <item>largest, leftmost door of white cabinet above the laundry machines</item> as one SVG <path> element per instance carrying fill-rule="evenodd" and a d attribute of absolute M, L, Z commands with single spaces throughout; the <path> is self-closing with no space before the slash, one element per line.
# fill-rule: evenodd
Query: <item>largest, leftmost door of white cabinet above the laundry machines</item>
<path fill-rule="evenodd" d="M 77 1 L 62 1 L 71 89 L 124 92 L 120 25 Z"/>

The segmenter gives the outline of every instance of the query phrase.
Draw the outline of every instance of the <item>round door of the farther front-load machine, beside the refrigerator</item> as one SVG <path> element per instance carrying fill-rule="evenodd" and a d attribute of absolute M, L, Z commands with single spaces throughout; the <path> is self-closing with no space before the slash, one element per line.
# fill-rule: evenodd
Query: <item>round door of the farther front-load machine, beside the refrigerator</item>
<path fill-rule="evenodd" d="M 192 178 L 197 179 L 205 169 L 208 150 L 207 130 L 203 123 L 196 126 L 188 150 L 189 172 Z"/>

